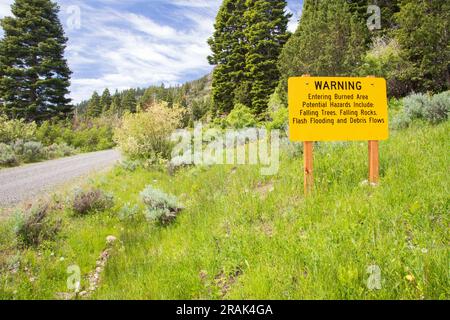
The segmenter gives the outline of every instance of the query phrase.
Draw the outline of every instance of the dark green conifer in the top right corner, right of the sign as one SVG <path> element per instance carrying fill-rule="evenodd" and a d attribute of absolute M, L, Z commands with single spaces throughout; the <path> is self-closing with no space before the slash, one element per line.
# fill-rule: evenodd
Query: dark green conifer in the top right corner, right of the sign
<path fill-rule="evenodd" d="M 400 78 L 416 92 L 450 88 L 450 2 L 403 0 L 394 32 L 408 62 Z"/>

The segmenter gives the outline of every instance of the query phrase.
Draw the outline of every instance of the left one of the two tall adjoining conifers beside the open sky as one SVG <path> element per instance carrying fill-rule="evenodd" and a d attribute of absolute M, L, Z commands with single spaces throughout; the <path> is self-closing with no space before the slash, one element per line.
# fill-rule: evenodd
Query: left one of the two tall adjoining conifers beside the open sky
<path fill-rule="evenodd" d="M 215 32 L 208 40 L 212 55 L 212 100 L 216 114 L 233 109 L 236 88 L 245 80 L 246 40 L 244 35 L 245 0 L 224 0 L 214 24 Z"/>

